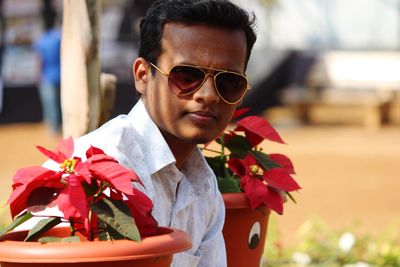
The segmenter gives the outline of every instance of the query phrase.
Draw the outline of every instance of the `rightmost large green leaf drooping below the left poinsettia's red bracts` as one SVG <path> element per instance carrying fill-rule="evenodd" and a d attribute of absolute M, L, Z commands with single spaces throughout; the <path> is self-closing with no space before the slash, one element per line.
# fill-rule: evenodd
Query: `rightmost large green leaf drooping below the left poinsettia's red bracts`
<path fill-rule="evenodd" d="M 91 204 L 90 209 L 97 214 L 100 220 L 123 237 L 140 241 L 140 234 L 135 220 L 123 201 L 112 202 L 104 198 L 96 204 Z"/>

